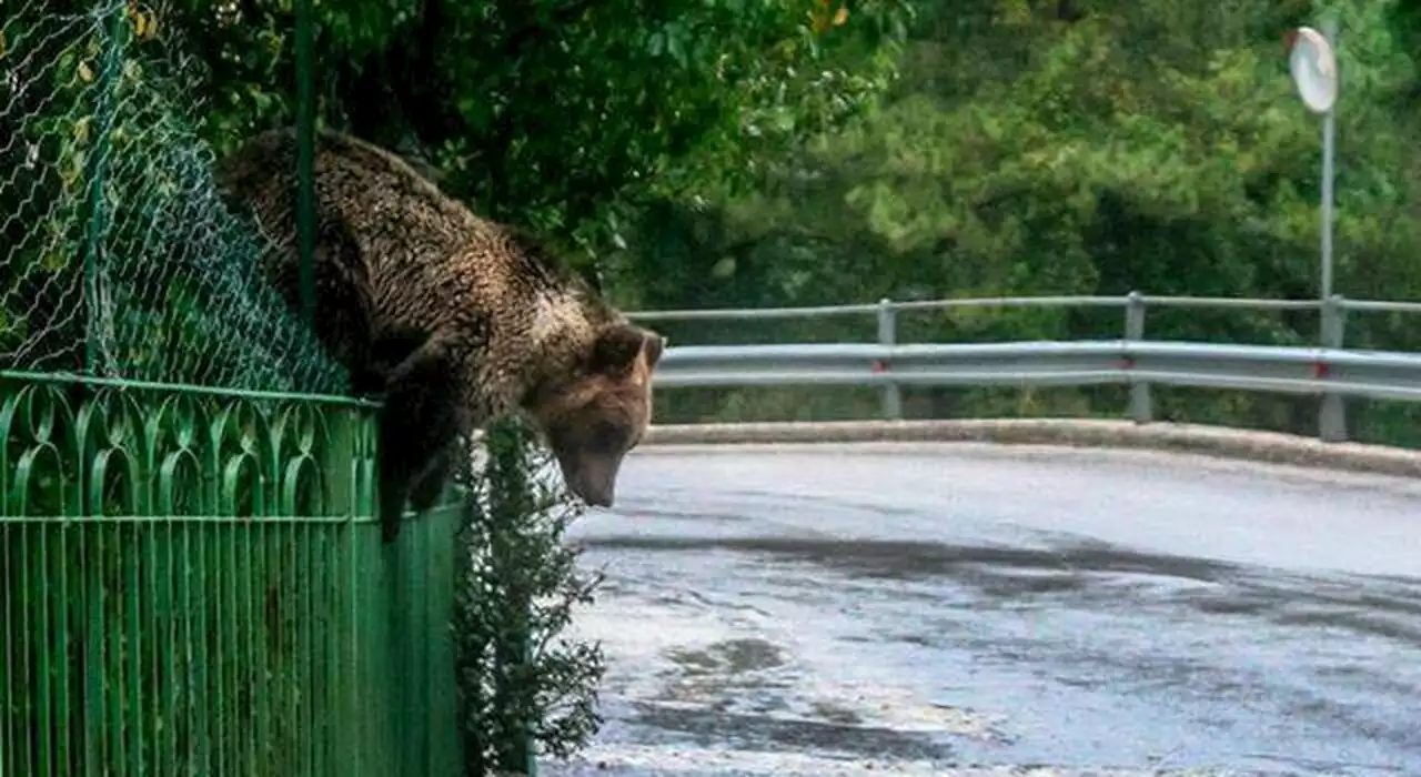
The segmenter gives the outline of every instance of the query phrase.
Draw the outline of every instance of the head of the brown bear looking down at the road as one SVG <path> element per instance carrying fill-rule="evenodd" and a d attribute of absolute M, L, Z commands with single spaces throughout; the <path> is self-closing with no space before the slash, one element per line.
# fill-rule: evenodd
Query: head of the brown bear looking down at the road
<path fill-rule="evenodd" d="M 664 349 L 651 330 L 604 324 L 576 375 L 534 408 L 563 479 L 588 504 L 615 499 L 622 457 L 651 422 L 651 375 Z"/>

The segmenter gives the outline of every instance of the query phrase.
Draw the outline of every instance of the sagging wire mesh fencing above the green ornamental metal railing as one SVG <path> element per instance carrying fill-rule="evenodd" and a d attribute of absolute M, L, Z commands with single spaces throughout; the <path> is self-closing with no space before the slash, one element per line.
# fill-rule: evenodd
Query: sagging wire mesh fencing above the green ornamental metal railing
<path fill-rule="evenodd" d="M 199 135 L 196 63 L 124 0 L 0 27 L 0 369 L 334 393 Z"/>

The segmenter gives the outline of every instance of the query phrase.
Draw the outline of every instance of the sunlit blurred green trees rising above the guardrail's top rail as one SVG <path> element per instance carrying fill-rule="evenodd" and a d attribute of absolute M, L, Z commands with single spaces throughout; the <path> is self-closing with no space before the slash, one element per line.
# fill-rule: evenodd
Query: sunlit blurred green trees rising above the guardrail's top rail
<path fill-rule="evenodd" d="M 1421 278 L 1414 263 L 1360 261 L 1398 256 L 1417 236 L 1404 197 L 1411 143 L 1398 116 L 1373 108 L 1404 58 L 1377 31 L 1385 3 L 1354 6 L 1339 280 L 1367 295 Z M 860 298 L 1313 295 L 1320 131 L 1282 43 L 1310 14 L 1307 3 L 1162 0 L 925 13 L 894 98 L 816 138 L 770 186 L 723 203 L 726 241 L 791 233 L 817 253 L 843 247 L 864 263 Z M 782 268 L 777 297 L 844 298 L 843 283 L 804 283 L 801 271 Z M 709 276 L 735 283 L 728 270 Z"/>

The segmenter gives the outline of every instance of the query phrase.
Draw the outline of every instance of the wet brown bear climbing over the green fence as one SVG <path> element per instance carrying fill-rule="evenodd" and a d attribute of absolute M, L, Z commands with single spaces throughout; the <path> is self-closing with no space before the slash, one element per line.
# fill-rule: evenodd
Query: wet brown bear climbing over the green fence
<path fill-rule="evenodd" d="M 315 138 L 315 335 L 382 395 L 379 520 L 438 499 L 460 438 L 530 418 L 568 487 L 610 507 L 622 457 L 651 418 L 664 338 L 627 321 L 534 239 L 476 216 L 399 156 L 331 131 Z M 300 304 L 297 143 L 269 131 L 217 165 L 233 210 L 266 244 L 267 277 Z"/>

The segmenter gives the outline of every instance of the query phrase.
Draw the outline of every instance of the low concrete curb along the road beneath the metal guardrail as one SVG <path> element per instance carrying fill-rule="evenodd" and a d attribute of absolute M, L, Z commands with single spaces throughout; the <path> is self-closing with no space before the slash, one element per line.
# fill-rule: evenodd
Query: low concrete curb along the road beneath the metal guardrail
<path fill-rule="evenodd" d="M 1277 464 L 1421 477 L 1421 450 L 1223 426 L 1094 419 L 836 420 L 652 426 L 642 445 L 976 442 L 1142 447 Z"/>

